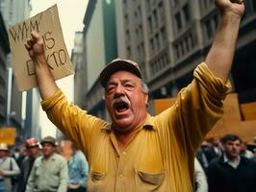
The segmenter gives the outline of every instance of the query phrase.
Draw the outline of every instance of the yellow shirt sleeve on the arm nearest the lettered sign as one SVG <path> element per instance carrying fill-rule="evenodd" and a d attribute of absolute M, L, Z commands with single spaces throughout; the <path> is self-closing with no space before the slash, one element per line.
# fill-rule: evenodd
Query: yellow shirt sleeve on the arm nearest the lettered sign
<path fill-rule="evenodd" d="M 70 104 L 59 89 L 54 95 L 41 102 L 48 118 L 64 134 L 73 140 L 88 156 L 91 133 L 108 123 Z"/>

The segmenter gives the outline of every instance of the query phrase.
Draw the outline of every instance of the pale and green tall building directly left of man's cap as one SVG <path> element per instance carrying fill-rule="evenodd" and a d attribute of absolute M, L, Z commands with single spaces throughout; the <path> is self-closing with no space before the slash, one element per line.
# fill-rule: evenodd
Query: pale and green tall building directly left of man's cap
<path fill-rule="evenodd" d="M 83 83 L 80 83 L 80 89 L 76 88 L 77 91 L 74 94 L 82 94 L 82 108 L 87 109 L 91 114 L 108 119 L 103 101 L 104 92 L 98 76 L 104 66 L 117 57 L 115 1 L 90 0 L 84 24 L 82 65 L 85 76 Z M 76 80 L 75 84 L 77 84 Z M 86 94 L 83 95 L 84 93 Z"/>

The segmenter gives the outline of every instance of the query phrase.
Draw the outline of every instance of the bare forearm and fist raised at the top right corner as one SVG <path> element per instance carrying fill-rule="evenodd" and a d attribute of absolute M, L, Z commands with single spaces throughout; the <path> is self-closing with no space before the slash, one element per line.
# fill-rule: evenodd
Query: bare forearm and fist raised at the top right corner
<path fill-rule="evenodd" d="M 234 58 L 244 5 L 243 0 L 215 0 L 215 3 L 220 21 L 206 64 L 225 83 Z"/>

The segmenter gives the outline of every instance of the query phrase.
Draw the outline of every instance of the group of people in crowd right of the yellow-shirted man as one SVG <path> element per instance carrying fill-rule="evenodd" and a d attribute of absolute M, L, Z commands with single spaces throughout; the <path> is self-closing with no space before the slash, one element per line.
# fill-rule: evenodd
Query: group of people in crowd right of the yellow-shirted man
<path fill-rule="evenodd" d="M 246 146 L 236 134 L 204 141 L 195 157 L 194 191 L 255 191 L 256 143 L 250 150 Z"/>

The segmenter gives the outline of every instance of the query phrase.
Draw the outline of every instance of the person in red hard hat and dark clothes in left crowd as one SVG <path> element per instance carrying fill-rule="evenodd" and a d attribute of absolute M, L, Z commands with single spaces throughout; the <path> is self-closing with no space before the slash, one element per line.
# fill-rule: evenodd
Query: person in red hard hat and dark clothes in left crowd
<path fill-rule="evenodd" d="M 21 163 L 20 175 L 18 176 L 16 192 L 25 192 L 27 180 L 36 158 L 40 155 L 39 142 L 36 138 L 29 138 L 25 141 L 27 156 Z"/>

